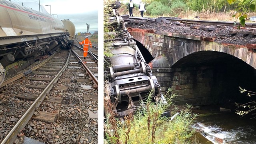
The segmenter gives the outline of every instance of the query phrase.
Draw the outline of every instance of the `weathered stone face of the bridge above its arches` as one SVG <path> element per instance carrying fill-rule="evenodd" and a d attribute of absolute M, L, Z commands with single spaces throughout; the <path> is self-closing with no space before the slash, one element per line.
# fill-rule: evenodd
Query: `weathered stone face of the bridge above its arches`
<path fill-rule="evenodd" d="M 142 43 L 154 58 L 164 55 L 171 61 L 171 65 L 194 52 L 216 51 L 235 56 L 256 69 L 256 53 L 253 52 L 253 49 L 256 49 L 255 44 L 242 46 L 217 43 L 213 42 L 214 38 L 202 36 L 170 32 L 164 32 L 160 35 L 152 33 L 153 31 L 138 28 L 128 28 L 128 30 L 134 39 Z"/>

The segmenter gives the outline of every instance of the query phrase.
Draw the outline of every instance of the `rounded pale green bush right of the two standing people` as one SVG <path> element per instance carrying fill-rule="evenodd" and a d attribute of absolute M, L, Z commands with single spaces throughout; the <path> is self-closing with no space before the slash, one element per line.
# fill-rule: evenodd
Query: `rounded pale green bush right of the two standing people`
<path fill-rule="evenodd" d="M 163 16 L 171 13 L 171 8 L 162 4 L 161 2 L 154 1 L 146 7 L 148 14 L 152 16 Z"/>

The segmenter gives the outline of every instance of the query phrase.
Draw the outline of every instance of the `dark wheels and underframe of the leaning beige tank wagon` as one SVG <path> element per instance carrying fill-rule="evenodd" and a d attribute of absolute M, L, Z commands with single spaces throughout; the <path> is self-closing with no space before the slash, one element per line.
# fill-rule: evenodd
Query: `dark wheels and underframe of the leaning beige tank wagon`
<path fill-rule="evenodd" d="M 69 33 L 0 37 L 0 63 L 6 67 L 16 60 L 46 53 L 51 55 L 57 48 L 67 46 L 68 35 Z"/>

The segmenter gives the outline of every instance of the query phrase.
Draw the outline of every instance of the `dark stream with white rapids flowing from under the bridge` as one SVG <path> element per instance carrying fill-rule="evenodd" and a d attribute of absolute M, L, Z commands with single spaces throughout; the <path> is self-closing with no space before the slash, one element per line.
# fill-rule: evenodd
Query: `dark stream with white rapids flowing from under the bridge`
<path fill-rule="evenodd" d="M 252 119 L 252 115 L 241 118 L 234 112 L 220 112 L 220 106 L 201 107 L 193 112 L 198 116 L 192 128 L 208 138 L 199 137 L 202 143 L 218 143 L 216 138 L 223 143 L 256 143 L 256 118 Z"/>

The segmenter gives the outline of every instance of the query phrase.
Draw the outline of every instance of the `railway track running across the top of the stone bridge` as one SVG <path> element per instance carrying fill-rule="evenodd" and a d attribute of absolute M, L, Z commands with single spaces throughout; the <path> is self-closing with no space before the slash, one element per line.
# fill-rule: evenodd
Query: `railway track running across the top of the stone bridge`
<path fill-rule="evenodd" d="M 226 22 L 226 21 L 211 21 L 211 20 L 188 20 L 188 19 L 179 19 L 179 18 L 168 18 L 168 17 L 158 17 L 160 19 L 170 20 L 172 22 L 183 22 L 187 24 L 205 24 L 205 25 L 220 25 L 220 26 L 241 26 L 240 22 Z M 140 17 L 131 17 L 126 18 L 124 21 L 130 20 L 156 20 L 157 18 L 140 18 Z M 247 28 L 256 28 L 256 23 L 245 23 L 245 27 Z"/>

